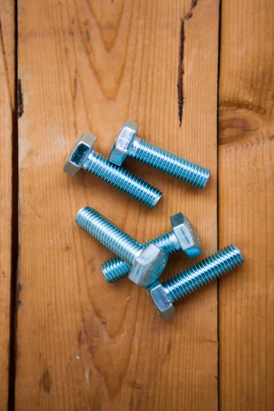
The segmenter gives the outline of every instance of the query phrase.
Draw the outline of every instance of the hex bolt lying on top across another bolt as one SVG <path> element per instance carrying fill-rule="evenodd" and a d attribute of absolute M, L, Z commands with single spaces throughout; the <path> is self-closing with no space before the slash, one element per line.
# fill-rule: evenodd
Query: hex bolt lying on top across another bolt
<path fill-rule="evenodd" d="M 168 254 L 153 244 L 144 247 L 94 208 L 79 210 L 75 221 L 110 251 L 132 265 L 129 279 L 138 286 L 149 286 L 164 270 Z"/>

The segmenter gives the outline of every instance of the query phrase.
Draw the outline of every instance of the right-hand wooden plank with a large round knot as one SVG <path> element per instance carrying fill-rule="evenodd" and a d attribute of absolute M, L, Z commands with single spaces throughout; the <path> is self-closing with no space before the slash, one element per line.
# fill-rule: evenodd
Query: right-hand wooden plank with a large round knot
<path fill-rule="evenodd" d="M 222 2 L 219 241 L 245 264 L 220 282 L 221 410 L 273 410 L 273 1 Z"/>

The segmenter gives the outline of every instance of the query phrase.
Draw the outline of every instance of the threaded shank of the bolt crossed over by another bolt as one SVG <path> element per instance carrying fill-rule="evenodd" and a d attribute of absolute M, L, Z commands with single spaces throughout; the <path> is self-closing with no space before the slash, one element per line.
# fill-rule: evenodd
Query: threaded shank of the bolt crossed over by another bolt
<path fill-rule="evenodd" d="M 173 231 L 167 232 L 162 236 L 158 236 L 153 238 L 153 240 L 145 242 L 145 246 L 150 244 L 156 245 L 169 254 L 173 254 L 181 249 Z M 102 264 L 103 275 L 105 277 L 105 281 L 108 283 L 116 282 L 117 280 L 126 277 L 129 274 L 130 268 L 130 265 L 121 260 L 119 257 L 111 258 Z"/>

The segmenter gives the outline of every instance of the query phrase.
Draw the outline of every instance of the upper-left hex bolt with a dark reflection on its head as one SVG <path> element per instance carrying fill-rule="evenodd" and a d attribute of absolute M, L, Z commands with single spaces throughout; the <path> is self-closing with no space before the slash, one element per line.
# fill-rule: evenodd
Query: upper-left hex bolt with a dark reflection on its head
<path fill-rule="evenodd" d="M 140 203 L 153 208 L 162 192 L 126 169 L 112 164 L 107 158 L 93 150 L 97 138 L 90 133 L 83 134 L 66 159 L 64 171 L 75 177 L 80 169 L 96 175 L 111 186 L 130 195 Z"/>

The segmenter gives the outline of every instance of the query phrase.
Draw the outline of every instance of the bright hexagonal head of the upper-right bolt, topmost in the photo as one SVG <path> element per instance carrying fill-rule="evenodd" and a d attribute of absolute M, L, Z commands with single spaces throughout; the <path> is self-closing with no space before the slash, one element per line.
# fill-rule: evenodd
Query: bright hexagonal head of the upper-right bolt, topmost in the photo
<path fill-rule="evenodd" d="M 117 166 L 121 166 L 127 157 L 127 152 L 129 151 L 130 145 L 136 137 L 137 130 L 138 124 L 134 123 L 134 121 L 127 120 L 123 123 L 110 151 L 110 161 L 112 163 Z"/>

